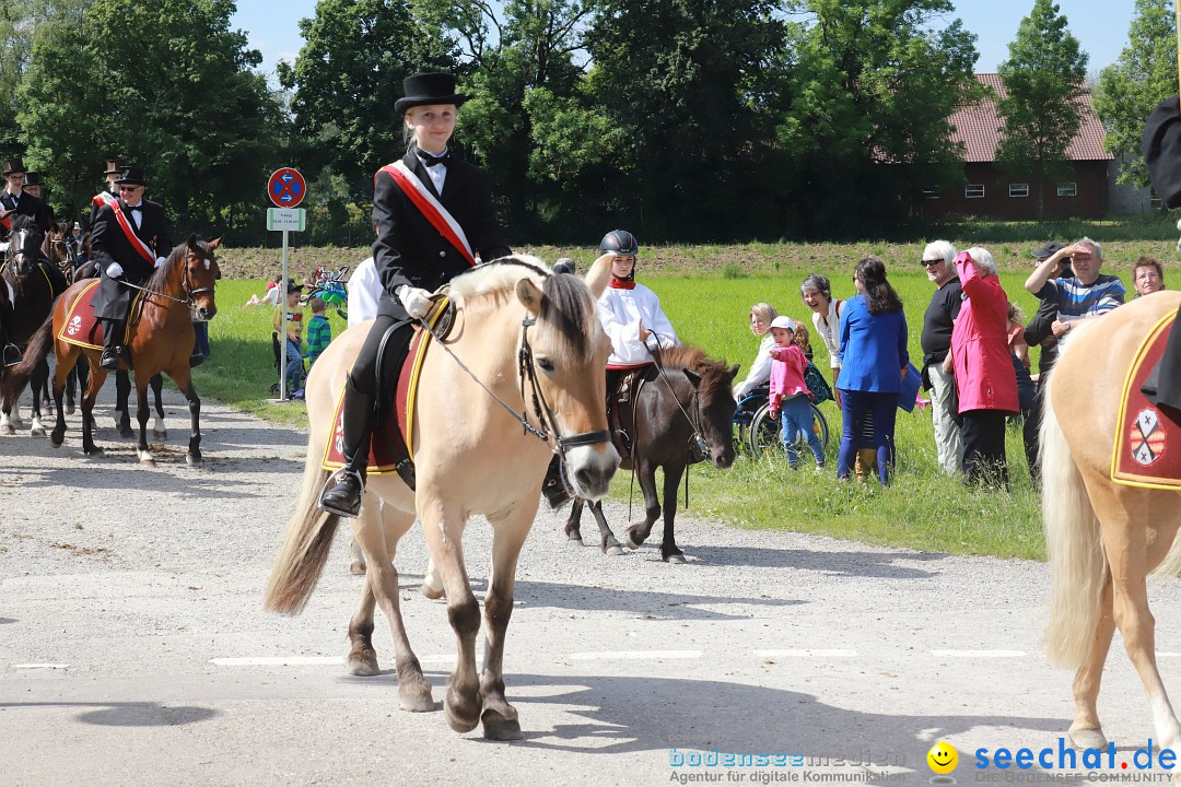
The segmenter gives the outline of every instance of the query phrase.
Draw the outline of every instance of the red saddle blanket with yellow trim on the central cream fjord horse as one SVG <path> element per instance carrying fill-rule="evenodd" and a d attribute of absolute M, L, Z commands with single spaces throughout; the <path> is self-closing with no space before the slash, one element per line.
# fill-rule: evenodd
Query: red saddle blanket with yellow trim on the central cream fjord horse
<path fill-rule="evenodd" d="M 398 372 L 398 386 L 391 406 L 385 407 L 381 421 L 373 427 L 373 438 L 370 440 L 370 457 L 367 473 L 381 476 L 397 472 L 396 466 L 402 460 L 397 455 L 393 446 L 397 444 L 396 435 L 405 441 L 411 460 L 415 458 L 413 448 L 410 445 L 410 435 L 413 433 L 413 402 L 415 388 L 418 383 L 418 373 L 423 367 L 423 359 L 426 358 L 429 341 L 423 341 L 428 334 L 420 328 L 415 332 L 415 337 L 410 342 L 410 350 L 406 360 L 403 361 Z M 337 408 L 332 418 L 332 437 L 324 447 L 324 457 L 320 459 L 320 467 L 335 472 L 345 466 L 345 391 L 340 389 L 337 395 Z M 397 429 L 397 432 L 396 432 Z"/>

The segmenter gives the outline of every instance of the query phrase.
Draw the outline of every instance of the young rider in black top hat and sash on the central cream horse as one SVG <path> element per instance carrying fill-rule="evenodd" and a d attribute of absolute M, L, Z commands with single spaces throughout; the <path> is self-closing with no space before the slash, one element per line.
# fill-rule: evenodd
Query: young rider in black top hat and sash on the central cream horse
<path fill-rule="evenodd" d="M 488 172 L 462 160 L 448 146 L 458 107 L 468 98 L 456 93 L 455 77 L 416 74 L 403 80 L 403 88 L 405 97 L 393 107 L 403 116 L 413 143 L 400 160 L 381 168 L 373 178 L 373 261 L 381 280 L 381 299 L 368 339 L 345 382 L 341 431 L 346 465 L 320 496 L 321 509 L 346 517 L 357 516 L 364 494 L 374 405 L 390 401 L 394 370 L 402 366 L 413 323 L 430 311 L 431 291 L 470 270 L 477 255 L 487 262 L 511 254 L 492 211 Z M 422 212 L 411 194 L 436 205 L 438 214 L 432 211 L 429 217 Z M 463 229 L 468 243 L 454 232 L 448 232 L 454 241 L 444 236 L 444 228 L 435 221 L 446 218 Z M 383 350 L 386 334 L 390 337 Z M 386 359 L 380 369 L 379 350 Z M 406 455 L 404 450 L 400 453 Z M 398 473 L 411 484 L 407 460 L 398 463 Z"/>

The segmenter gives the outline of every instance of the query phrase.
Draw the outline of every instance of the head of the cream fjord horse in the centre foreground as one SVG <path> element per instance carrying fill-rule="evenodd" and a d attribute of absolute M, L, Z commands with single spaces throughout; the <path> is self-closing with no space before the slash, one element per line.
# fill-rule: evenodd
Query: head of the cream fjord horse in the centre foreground
<path fill-rule="evenodd" d="M 536 276 L 516 283 L 517 300 L 536 320 L 536 329 L 528 334 L 533 375 L 563 441 L 567 480 L 578 497 L 599 500 L 619 464 L 607 437 L 602 385 L 611 341 L 595 306 L 607 278 L 592 278 L 588 287 L 575 276 L 548 274 L 540 261 L 536 273 L 540 287 Z"/>

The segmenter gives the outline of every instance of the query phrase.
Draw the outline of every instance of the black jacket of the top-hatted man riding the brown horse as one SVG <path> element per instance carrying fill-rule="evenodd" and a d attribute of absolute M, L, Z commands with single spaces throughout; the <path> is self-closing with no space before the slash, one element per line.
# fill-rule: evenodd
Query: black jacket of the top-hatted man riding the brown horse
<path fill-rule="evenodd" d="M 167 257 L 172 250 L 172 242 L 168 237 L 165 227 L 164 209 L 156 202 L 144 199 L 141 203 L 144 208 L 143 219 L 139 229 L 136 229 L 136 219 L 128 208 L 128 203 L 119 199 L 117 210 L 128 218 L 128 223 L 135 234 L 148 244 L 156 257 Z M 131 241 L 128 240 L 116 218 L 112 208 L 104 206 L 98 211 L 94 219 L 94 228 L 91 230 L 90 248 L 94 255 L 102 274 L 102 282 L 98 286 L 98 294 L 94 296 L 94 316 L 107 320 L 123 320 L 126 316 L 128 307 L 131 306 L 131 296 L 135 294 L 129 287 L 123 287 L 116 280 L 106 275 L 106 268 L 117 262 L 123 267 L 123 276 L 133 284 L 142 284 L 151 276 L 155 262 L 148 262 L 143 255 L 136 250 Z"/>

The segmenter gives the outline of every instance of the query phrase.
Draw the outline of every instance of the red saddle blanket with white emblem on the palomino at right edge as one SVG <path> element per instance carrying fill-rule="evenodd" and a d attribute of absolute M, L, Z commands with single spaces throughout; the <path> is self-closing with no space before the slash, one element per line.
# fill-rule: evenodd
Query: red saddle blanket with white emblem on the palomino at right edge
<path fill-rule="evenodd" d="M 1161 360 L 1176 313 L 1162 317 L 1141 342 L 1124 381 L 1116 421 L 1111 480 L 1157 490 L 1181 488 L 1181 425 L 1167 418 L 1140 392 Z"/>

